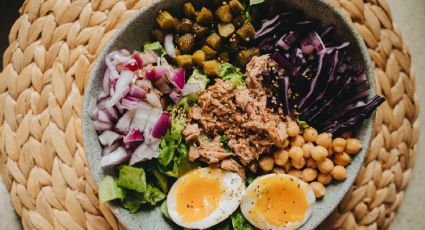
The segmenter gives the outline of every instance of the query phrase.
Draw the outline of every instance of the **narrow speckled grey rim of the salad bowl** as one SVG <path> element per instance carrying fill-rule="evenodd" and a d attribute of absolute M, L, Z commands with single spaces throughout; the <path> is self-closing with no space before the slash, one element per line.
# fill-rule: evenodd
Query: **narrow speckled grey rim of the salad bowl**
<path fill-rule="evenodd" d="M 87 85 L 86 85 L 86 88 L 85 88 L 85 93 L 84 93 L 82 121 L 83 121 L 84 146 L 85 146 L 85 150 L 86 150 L 86 153 L 87 153 L 87 159 L 88 159 L 88 162 L 89 162 L 90 169 L 93 172 L 99 171 L 98 169 L 95 168 L 95 167 L 98 167 L 99 163 L 94 162 L 94 161 L 98 161 L 99 157 L 96 157 L 94 154 L 100 155 L 100 153 L 93 152 L 93 150 L 92 150 L 93 148 L 91 148 L 92 144 L 94 144 L 93 142 L 97 142 L 97 136 L 93 137 L 93 136 L 90 135 L 90 134 L 93 133 L 94 128 L 93 128 L 93 122 L 92 122 L 92 119 L 91 119 L 91 116 L 90 116 L 90 111 L 87 108 L 90 107 L 90 103 L 92 103 L 92 100 L 93 100 L 93 98 L 90 97 L 91 96 L 90 95 L 90 89 L 94 88 L 94 84 L 96 84 L 95 78 L 98 74 L 97 71 L 102 66 L 102 62 L 103 62 L 108 50 L 116 43 L 117 38 L 120 37 L 120 35 L 122 35 L 123 33 L 126 32 L 127 27 L 129 27 L 132 23 L 134 23 L 139 17 L 141 17 L 141 15 L 143 15 L 144 13 L 149 11 L 149 9 L 156 6 L 157 4 L 160 4 L 162 1 L 166 1 L 166 0 L 152 0 L 146 6 L 141 8 L 137 13 L 135 13 L 135 15 L 133 15 L 131 17 L 131 19 L 129 19 L 127 22 L 125 22 L 114 33 L 114 35 L 111 36 L 110 40 L 106 43 L 105 47 L 102 48 L 101 53 L 97 57 L 97 60 L 92 67 L 92 70 L 91 70 L 91 73 L 90 73 L 90 76 L 89 76 L 89 79 L 88 79 L 88 82 L 87 82 Z M 317 2 L 317 4 L 321 4 L 323 7 L 326 8 L 326 10 L 329 10 L 331 14 L 333 14 L 337 19 L 339 19 L 342 22 L 342 24 L 344 24 L 344 26 L 351 33 L 350 36 L 352 36 L 354 38 L 354 41 L 357 43 L 357 45 L 360 48 L 359 49 L 360 56 L 363 58 L 363 64 L 364 64 L 365 71 L 366 71 L 366 74 L 367 74 L 368 82 L 371 86 L 370 90 L 369 90 L 369 98 L 372 98 L 373 96 L 375 96 L 375 94 L 376 94 L 375 93 L 375 79 L 373 77 L 374 67 L 373 67 L 372 61 L 371 61 L 371 59 L 368 55 L 368 51 L 367 51 L 366 45 L 365 45 L 362 37 L 357 32 L 357 29 L 352 24 L 352 22 L 347 18 L 347 16 L 340 9 L 338 9 L 336 6 L 330 5 L 326 0 L 298 0 L 298 1 L 297 0 L 284 0 L 284 1 L 292 2 L 291 4 L 294 4 L 294 5 L 299 4 L 297 2 L 306 2 L 306 1 Z M 348 166 L 348 168 L 347 168 L 347 171 L 348 171 L 347 179 L 343 182 L 331 184 L 331 185 L 328 185 L 326 187 L 328 194 L 325 195 L 325 197 L 322 200 L 320 200 L 316 203 L 316 206 L 313 210 L 313 215 L 309 218 L 309 220 L 300 229 L 315 229 L 337 207 L 337 205 L 342 200 L 344 195 L 350 189 L 351 185 L 354 183 L 354 181 L 357 177 L 357 174 L 360 171 L 361 166 L 363 165 L 366 153 L 368 151 L 368 148 L 369 148 L 369 145 L 370 145 L 370 142 L 371 142 L 371 139 L 372 139 L 374 120 L 375 120 L 375 113 L 370 118 L 366 119 L 361 125 L 362 130 L 361 130 L 361 133 L 359 135 L 362 137 L 361 141 L 362 141 L 364 148 L 362 149 L 362 151 L 360 153 L 358 153 L 354 157 L 352 163 Z M 95 138 L 95 139 L 93 139 L 93 138 Z M 96 175 L 95 173 L 93 173 L 93 176 L 94 176 L 96 183 L 99 183 L 100 180 L 103 177 L 103 173 L 101 173 L 101 175 Z M 332 192 L 330 192 L 330 191 L 332 191 Z M 329 193 L 333 194 L 333 196 L 330 196 Z M 320 203 L 326 203 L 328 205 L 325 206 L 325 207 L 321 207 L 320 210 L 318 210 L 318 206 L 320 206 L 319 205 Z M 130 214 L 127 210 L 125 210 L 125 209 L 123 209 L 123 208 L 121 208 L 117 205 L 114 205 L 112 203 L 108 203 L 108 206 L 111 208 L 112 212 L 116 215 L 118 220 L 124 226 L 126 226 L 127 228 L 136 229 L 136 228 L 141 227 L 141 226 L 133 226 L 132 224 L 127 223 L 127 220 L 129 220 L 129 215 L 134 215 L 134 214 Z M 156 209 L 158 209 L 158 207 Z M 143 218 L 143 214 L 138 214 L 138 216 Z M 162 219 L 163 217 L 160 217 L 160 218 Z M 163 220 L 163 222 L 166 223 L 166 224 L 162 224 L 162 225 L 164 225 L 163 226 L 164 229 L 166 228 L 166 226 L 168 226 L 168 227 L 171 226 L 170 228 L 175 227 L 173 225 L 170 225 L 170 223 L 168 221 L 166 221 L 165 219 Z M 157 222 L 155 220 L 152 220 L 152 222 L 150 222 L 150 224 L 148 224 L 149 227 L 145 225 L 145 226 L 143 226 L 143 229 L 155 229 L 156 223 Z M 153 225 L 151 225 L 151 224 L 153 224 Z"/>

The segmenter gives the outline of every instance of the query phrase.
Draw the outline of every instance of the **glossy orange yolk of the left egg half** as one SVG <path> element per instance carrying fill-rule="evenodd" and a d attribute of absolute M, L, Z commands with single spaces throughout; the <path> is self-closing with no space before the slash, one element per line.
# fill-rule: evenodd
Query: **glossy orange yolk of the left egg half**
<path fill-rule="evenodd" d="M 219 178 L 191 173 L 176 190 L 176 209 L 185 222 L 195 222 L 217 209 L 223 193 Z"/>

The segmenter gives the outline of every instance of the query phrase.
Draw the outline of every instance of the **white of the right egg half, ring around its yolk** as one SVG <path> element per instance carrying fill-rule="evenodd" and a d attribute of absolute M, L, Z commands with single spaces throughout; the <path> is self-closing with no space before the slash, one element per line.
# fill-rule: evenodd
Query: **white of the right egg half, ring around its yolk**
<path fill-rule="evenodd" d="M 251 210 L 251 207 L 256 203 L 256 196 L 248 196 L 245 195 L 242 198 L 241 201 L 241 211 L 242 214 L 245 216 L 245 218 L 255 227 L 259 229 L 267 229 L 267 230 L 292 230 L 297 229 L 301 227 L 307 220 L 310 218 L 311 213 L 313 211 L 313 205 L 316 202 L 316 197 L 314 196 L 314 192 L 311 189 L 310 185 L 305 183 L 304 181 L 298 179 L 297 177 L 288 175 L 288 174 L 267 174 L 264 176 L 257 177 L 247 188 L 245 191 L 245 194 L 258 194 L 258 190 L 255 190 L 258 186 L 261 186 L 261 181 L 269 178 L 269 177 L 286 177 L 286 178 L 292 178 L 293 180 L 297 181 L 300 186 L 304 189 L 308 208 L 304 213 L 304 219 L 302 221 L 298 222 L 289 222 L 282 226 L 276 226 L 271 223 L 268 223 L 266 218 L 262 215 L 258 215 L 258 219 L 252 219 L 250 217 L 249 211 Z M 255 192 L 258 191 L 258 192 Z"/>

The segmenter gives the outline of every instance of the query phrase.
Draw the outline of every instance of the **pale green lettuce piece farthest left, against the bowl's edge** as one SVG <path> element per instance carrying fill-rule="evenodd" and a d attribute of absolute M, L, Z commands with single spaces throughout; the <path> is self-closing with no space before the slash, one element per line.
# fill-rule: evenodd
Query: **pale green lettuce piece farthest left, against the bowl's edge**
<path fill-rule="evenodd" d="M 117 186 L 116 181 L 111 176 L 105 176 L 99 184 L 99 200 L 102 203 L 111 200 L 123 200 L 125 192 Z"/>

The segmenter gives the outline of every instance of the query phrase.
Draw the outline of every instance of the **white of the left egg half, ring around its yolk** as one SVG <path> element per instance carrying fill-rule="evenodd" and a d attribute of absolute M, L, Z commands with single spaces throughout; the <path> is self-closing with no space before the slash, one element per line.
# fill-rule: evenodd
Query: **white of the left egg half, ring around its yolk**
<path fill-rule="evenodd" d="M 167 196 L 167 208 L 170 218 L 177 225 L 190 229 L 206 229 L 227 219 L 239 207 L 242 197 L 245 194 L 245 184 L 243 179 L 233 172 L 210 168 L 199 168 L 195 170 L 198 170 L 199 175 L 219 178 L 223 193 L 219 199 L 217 209 L 205 218 L 194 222 L 185 222 L 181 218 L 176 210 L 177 190 L 182 184 L 182 181 L 186 180 L 191 172 L 180 177 L 173 184 Z M 190 194 L 187 194 L 187 196 L 190 196 Z"/>

